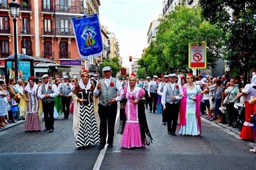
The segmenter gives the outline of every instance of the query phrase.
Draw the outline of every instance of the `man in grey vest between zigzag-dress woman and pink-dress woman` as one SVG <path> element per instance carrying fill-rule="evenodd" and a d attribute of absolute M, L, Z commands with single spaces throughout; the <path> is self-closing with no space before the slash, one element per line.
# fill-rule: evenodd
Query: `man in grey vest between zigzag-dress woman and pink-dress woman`
<path fill-rule="evenodd" d="M 117 101 L 123 98 L 123 87 L 121 83 L 113 78 L 110 66 L 105 66 L 102 69 L 104 79 L 97 83 L 97 88 L 93 94 L 99 96 L 99 118 L 100 118 L 100 145 L 99 149 L 103 149 L 106 145 L 106 134 L 108 130 L 107 147 L 113 147 L 114 124 L 117 116 Z M 118 93 L 118 95 L 117 95 Z"/>

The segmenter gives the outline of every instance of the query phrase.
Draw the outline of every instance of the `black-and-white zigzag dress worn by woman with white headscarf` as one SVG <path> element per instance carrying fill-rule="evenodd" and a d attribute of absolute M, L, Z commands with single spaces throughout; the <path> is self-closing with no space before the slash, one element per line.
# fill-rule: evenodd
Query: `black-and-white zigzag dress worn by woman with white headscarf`
<path fill-rule="evenodd" d="M 76 147 L 99 144 L 99 130 L 93 112 L 92 91 L 80 89 L 77 97 L 85 99 L 79 108 L 79 129 Z"/>

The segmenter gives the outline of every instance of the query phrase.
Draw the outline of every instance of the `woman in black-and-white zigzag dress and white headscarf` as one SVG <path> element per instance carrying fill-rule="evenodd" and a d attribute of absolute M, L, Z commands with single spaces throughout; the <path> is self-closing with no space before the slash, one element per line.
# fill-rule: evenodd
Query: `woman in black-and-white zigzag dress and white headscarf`
<path fill-rule="evenodd" d="M 93 112 L 93 90 L 90 74 L 84 70 L 78 86 L 73 89 L 73 131 L 78 149 L 99 144 L 99 130 Z"/>

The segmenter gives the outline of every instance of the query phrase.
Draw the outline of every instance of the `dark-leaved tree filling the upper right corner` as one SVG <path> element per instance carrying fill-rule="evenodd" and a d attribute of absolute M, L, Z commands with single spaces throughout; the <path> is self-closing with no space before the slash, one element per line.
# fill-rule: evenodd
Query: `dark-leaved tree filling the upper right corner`
<path fill-rule="evenodd" d="M 247 78 L 248 70 L 256 65 L 256 2 L 200 0 L 202 15 L 224 30 L 226 59 L 231 67 L 240 67 Z M 246 81 L 246 80 L 245 80 Z"/>

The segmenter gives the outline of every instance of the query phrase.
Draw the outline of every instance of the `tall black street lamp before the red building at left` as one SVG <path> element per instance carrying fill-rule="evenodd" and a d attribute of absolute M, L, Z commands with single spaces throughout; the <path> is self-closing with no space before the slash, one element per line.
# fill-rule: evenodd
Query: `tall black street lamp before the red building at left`
<path fill-rule="evenodd" d="M 18 79 L 18 53 L 17 53 L 17 18 L 19 14 L 19 3 L 15 0 L 12 0 L 9 3 L 9 7 L 11 9 L 12 21 L 14 21 L 14 62 L 15 62 L 15 80 Z"/>

